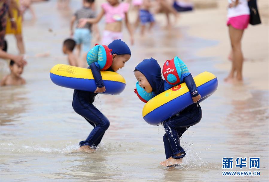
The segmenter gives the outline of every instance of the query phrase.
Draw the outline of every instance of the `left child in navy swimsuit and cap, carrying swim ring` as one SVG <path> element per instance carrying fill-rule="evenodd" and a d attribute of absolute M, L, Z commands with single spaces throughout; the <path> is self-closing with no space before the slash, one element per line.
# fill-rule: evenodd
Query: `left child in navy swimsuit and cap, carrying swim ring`
<path fill-rule="evenodd" d="M 114 40 L 108 45 L 108 48 L 112 49 L 111 53 L 113 61 L 111 67 L 106 71 L 116 72 L 118 69 L 123 68 L 124 64 L 130 59 L 131 51 L 127 44 L 120 39 Z M 95 92 L 74 90 L 72 106 L 76 113 L 81 115 L 93 126 L 93 130 L 86 140 L 79 142 L 80 150 L 92 152 L 95 151 L 96 147 L 101 142 L 110 123 L 107 117 L 92 104 L 98 93 L 106 91 L 100 73 L 100 67 L 98 63 L 94 62 L 88 68 L 92 70 L 92 75 L 95 79 L 97 88 Z"/>

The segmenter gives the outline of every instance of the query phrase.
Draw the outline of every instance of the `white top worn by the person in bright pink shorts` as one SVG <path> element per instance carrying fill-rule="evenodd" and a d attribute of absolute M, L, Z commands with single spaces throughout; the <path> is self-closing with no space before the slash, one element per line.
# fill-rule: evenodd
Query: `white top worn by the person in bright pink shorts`
<path fill-rule="evenodd" d="M 235 2 L 235 0 L 228 0 L 229 4 Z M 241 15 L 249 15 L 250 10 L 247 4 L 247 0 L 239 0 L 238 5 L 235 7 L 228 8 L 228 14 L 227 17 L 235 17 L 235 16 L 241 16 Z"/>

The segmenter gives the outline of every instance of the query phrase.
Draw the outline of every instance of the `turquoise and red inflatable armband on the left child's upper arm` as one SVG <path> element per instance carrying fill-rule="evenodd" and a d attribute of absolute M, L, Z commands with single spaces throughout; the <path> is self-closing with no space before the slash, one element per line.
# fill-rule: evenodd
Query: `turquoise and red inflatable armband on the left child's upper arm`
<path fill-rule="evenodd" d="M 98 62 L 100 70 L 108 69 L 112 64 L 112 49 L 109 49 L 106 45 L 95 44 L 87 54 L 87 63 Z"/>

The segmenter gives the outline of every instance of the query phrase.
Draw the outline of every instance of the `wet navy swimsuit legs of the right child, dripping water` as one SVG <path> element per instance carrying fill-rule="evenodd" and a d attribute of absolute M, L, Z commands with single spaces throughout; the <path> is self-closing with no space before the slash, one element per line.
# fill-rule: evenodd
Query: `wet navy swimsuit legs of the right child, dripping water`
<path fill-rule="evenodd" d="M 198 103 L 194 103 L 179 113 L 178 116 L 172 116 L 171 119 L 162 122 L 165 129 L 163 143 L 166 159 L 173 157 L 176 159 L 183 158 L 186 155 L 184 149 L 180 146 L 180 137 L 192 125 L 196 125 L 202 118 L 202 110 Z M 175 154 L 182 153 L 181 156 Z"/>

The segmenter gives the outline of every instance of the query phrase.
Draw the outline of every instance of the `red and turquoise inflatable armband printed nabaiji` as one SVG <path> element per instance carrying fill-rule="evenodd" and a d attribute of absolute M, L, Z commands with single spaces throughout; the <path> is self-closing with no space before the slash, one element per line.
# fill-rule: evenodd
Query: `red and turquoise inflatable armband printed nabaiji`
<path fill-rule="evenodd" d="M 183 73 L 189 72 L 186 64 L 177 56 L 171 60 L 166 60 L 162 67 L 162 75 L 171 85 L 180 83 L 180 77 Z"/>

